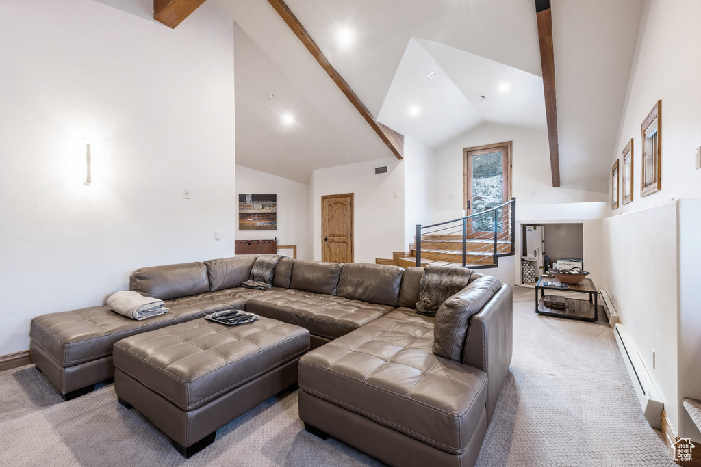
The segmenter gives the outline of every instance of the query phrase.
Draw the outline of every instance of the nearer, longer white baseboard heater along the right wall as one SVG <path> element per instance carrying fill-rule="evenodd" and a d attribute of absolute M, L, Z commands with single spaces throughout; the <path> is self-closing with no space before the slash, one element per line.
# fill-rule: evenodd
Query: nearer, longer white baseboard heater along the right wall
<path fill-rule="evenodd" d="M 643 361 L 635 350 L 630 335 L 621 323 L 615 325 L 613 335 L 615 335 L 615 340 L 618 342 L 618 348 L 628 369 L 628 375 L 630 375 L 630 379 L 633 382 L 633 388 L 640 401 L 645 419 L 650 426 L 659 430 L 662 409 L 665 407 L 660 393 L 655 389 L 655 385 L 650 379 Z"/>

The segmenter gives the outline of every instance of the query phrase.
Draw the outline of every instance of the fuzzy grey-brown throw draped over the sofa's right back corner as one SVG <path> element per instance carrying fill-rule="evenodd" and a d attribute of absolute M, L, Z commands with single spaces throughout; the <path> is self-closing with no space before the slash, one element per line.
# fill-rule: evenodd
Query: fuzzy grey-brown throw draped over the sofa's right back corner
<path fill-rule="evenodd" d="M 418 283 L 416 313 L 435 316 L 445 300 L 468 285 L 471 274 L 472 270 L 466 267 L 428 265 L 423 268 Z"/>

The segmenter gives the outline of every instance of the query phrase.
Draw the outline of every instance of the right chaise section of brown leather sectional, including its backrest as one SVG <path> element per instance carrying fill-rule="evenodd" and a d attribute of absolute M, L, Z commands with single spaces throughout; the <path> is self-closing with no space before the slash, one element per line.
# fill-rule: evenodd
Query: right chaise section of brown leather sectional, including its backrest
<path fill-rule="evenodd" d="M 302 357 L 307 431 L 390 465 L 474 465 L 511 362 L 512 290 L 472 275 L 435 319 L 400 307 Z"/>

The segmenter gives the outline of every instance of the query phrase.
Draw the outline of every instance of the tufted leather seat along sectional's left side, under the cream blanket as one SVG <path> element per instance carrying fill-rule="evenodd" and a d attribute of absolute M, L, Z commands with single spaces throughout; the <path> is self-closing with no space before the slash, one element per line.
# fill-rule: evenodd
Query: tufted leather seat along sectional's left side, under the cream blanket
<path fill-rule="evenodd" d="M 106 306 L 50 313 L 32 319 L 29 337 L 64 368 L 108 357 L 118 340 L 227 308 L 243 309 L 246 300 L 264 291 L 232 288 L 166 300 L 168 313 L 136 321 Z"/>

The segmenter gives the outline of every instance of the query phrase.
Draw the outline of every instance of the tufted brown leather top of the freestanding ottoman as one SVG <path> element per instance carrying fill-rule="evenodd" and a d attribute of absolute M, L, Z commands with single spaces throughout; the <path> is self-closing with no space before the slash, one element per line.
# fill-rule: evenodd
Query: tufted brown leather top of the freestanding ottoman
<path fill-rule="evenodd" d="M 275 319 L 243 326 L 196 319 L 117 342 L 114 365 L 181 410 L 194 410 L 308 349 L 308 330 Z"/>

